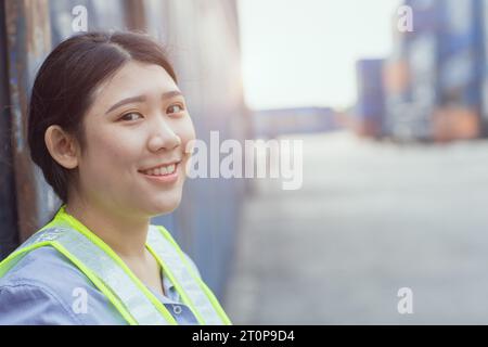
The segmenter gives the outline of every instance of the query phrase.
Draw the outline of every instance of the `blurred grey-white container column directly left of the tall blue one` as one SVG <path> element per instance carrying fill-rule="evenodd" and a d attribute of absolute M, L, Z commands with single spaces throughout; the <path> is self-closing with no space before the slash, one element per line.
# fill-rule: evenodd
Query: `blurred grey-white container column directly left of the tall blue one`
<path fill-rule="evenodd" d="M 413 30 L 398 34 L 385 63 L 384 133 L 401 141 L 429 140 L 436 108 L 441 0 L 406 0 Z"/>

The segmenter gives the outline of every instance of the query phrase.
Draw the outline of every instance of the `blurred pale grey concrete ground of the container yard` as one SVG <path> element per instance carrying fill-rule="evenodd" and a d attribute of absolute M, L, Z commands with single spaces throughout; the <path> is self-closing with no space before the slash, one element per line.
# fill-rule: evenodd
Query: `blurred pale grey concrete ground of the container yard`
<path fill-rule="evenodd" d="M 257 180 L 245 204 L 223 299 L 235 324 L 488 323 L 488 142 L 298 138 L 303 188 Z"/>

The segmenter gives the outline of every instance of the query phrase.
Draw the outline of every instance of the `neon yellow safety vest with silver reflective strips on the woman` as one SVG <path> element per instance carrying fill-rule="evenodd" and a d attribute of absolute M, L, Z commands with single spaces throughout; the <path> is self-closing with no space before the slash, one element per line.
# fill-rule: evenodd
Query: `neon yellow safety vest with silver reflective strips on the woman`
<path fill-rule="evenodd" d="M 53 220 L 0 262 L 0 278 L 29 252 L 51 246 L 68 258 L 107 297 L 124 319 L 137 324 L 177 324 L 159 299 L 100 237 L 68 215 L 63 205 Z M 193 271 L 170 233 L 150 226 L 146 248 L 174 283 L 200 324 L 231 324 L 214 293 Z"/>

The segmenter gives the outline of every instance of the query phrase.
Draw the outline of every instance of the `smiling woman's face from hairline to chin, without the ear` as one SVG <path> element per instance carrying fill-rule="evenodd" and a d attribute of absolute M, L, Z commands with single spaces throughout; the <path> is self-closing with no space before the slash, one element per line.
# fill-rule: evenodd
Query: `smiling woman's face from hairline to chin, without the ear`
<path fill-rule="evenodd" d="M 127 63 L 97 89 L 84 125 L 78 187 L 86 202 L 126 217 L 178 207 L 191 156 L 185 147 L 195 131 L 179 88 L 163 67 Z M 169 164 L 176 164 L 174 174 Z"/>

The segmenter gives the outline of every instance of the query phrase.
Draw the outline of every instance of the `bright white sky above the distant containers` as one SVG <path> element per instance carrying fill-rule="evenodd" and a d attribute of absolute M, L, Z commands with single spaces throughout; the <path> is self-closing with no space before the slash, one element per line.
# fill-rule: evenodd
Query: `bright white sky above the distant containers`
<path fill-rule="evenodd" d="M 244 94 L 253 110 L 356 101 L 358 59 L 386 57 L 400 0 L 239 0 Z"/>

